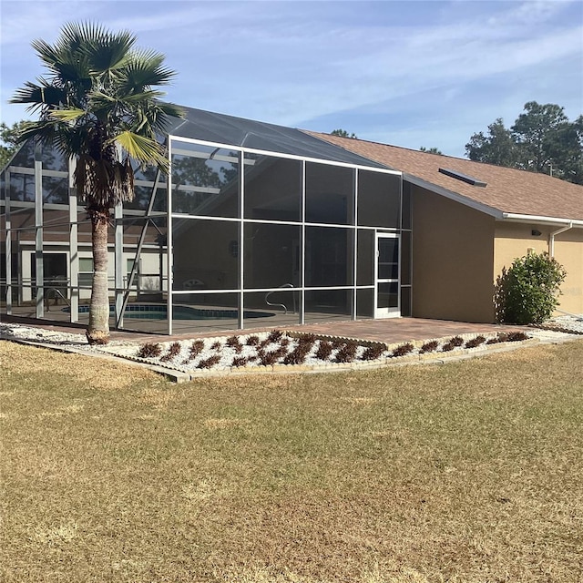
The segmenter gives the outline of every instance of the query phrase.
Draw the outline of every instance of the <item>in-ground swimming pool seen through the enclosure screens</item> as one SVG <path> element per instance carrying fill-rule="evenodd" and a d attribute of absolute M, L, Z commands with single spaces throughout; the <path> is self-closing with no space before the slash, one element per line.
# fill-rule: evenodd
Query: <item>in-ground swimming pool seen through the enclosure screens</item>
<path fill-rule="evenodd" d="M 70 312 L 68 306 L 63 312 Z M 89 306 L 79 306 L 79 313 L 88 313 Z M 116 307 L 109 306 L 109 314 L 115 315 Z M 273 312 L 261 312 L 259 310 L 245 310 L 243 318 L 270 318 Z M 226 308 L 193 308 L 191 306 L 174 306 L 172 320 L 237 320 L 238 310 Z M 161 303 L 130 303 L 124 311 L 124 318 L 136 320 L 166 320 L 168 318 L 168 306 Z"/>

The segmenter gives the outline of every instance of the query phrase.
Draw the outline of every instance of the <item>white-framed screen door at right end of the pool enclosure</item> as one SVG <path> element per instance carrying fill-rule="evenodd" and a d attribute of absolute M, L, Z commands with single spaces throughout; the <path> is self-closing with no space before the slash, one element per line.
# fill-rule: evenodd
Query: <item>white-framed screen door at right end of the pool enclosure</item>
<path fill-rule="evenodd" d="M 399 235 L 376 233 L 374 317 L 401 315 L 399 302 Z"/>

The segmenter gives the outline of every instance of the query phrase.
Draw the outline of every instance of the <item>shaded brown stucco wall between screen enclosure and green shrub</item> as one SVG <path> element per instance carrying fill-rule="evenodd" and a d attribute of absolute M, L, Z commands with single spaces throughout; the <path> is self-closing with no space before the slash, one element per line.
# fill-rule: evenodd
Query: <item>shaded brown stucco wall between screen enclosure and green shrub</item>
<path fill-rule="evenodd" d="M 413 187 L 413 315 L 493 322 L 492 217 Z"/>

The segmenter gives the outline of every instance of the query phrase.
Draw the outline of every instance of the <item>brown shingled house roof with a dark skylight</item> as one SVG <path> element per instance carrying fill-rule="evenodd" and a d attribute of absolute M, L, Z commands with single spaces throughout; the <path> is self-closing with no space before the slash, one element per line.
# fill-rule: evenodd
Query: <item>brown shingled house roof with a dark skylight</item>
<path fill-rule="evenodd" d="M 506 215 L 524 215 L 538 220 L 583 221 L 583 186 L 565 180 L 362 139 L 307 133 L 391 169 L 401 170 L 404 179 L 498 219 L 508 218 Z M 472 185 L 443 170 L 453 170 L 465 175 L 465 178 L 486 182 L 486 186 Z M 578 226 L 583 226 L 583 222 Z"/>

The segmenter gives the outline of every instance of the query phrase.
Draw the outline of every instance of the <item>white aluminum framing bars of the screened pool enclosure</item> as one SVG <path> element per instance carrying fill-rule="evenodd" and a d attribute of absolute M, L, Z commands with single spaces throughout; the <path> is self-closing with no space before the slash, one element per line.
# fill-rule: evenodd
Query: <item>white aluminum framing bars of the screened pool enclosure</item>
<path fill-rule="evenodd" d="M 185 156 L 193 156 L 193 157 L 203 157 L 200 154 L 197 155 L 196 151 L 190 151 L 188 149 L 179 148 L 179 143 L 193 145 L 195 147 L 202 146 L 208 148 L 220 148 L 225 150 L 230 150 L 230 152 L 235 153 L 235 156 L 222 156 L 219 155 L 217 159 L 224 159 L 224 161 L 235 161 L 239 163 L 239 188 L 238 188 L 238 212 L 239 216 L 236 218 L 233 217 L 218 217 L 218 216 L 207 216 L 207 215 L 190 215 L 184 213 L 173 213 L 172 212 L 172 195 L 174 185 L 172 184 L 172 157 L 174 154 L 185 155 Z M 167 155 L 169 159 L 169 172 L 166 181 L 160 181 L 157 177 L 154 179 L 156 182 L 156 187 L 164 186 L 167 189 L 167 208 L 166 212 L 152 212 L 152 215 L 156 216 L 165 216 L 167 221 L 167 245 L 166 245 L 166 254 L 167 257 L 163 259 L 165 262 L 165 267 L 167 271 L 167 281 L 166 281 L 166 290 L 164 290 L 164 285 L 162 283 L 161 289 L 162 292 L 167 292 L 166 297 L 166 304 L 167 304 L 167 313 L 168 313 L 168 320 L 166 331 L 169 334 L 173 332 L 173 304 L 174 304 L 174 296 L 176 294 L 188 294 L 188 295 L 196 295 L 199 293 L 212 293 L 212 294 L 224 294 L 224 293 L 236 293 L 238 294 L 238 307 L 239 307 L 239 321 L 238 325 L 242 328 L 245 325 L 244 320 L 244 308 L 245 308 L 245 301 L 248 294 L 251 293 L 267 293 L 267 292 L 281 292 L 281 288 L 249 288 L 245 287 L 244 281 L 244 228 L 246 224 L 273 224 L 273 225 L 290 225 L 290 226 L 297 226 L 299 227 L 299 256 L 298 256 L 298 269 L 299 269 L 299 278 L 298 278 L 298 285 L 295 288 L 289 288 L 291 292 L 298 293 L 298 323 L 302 324 L 306 320 L 306 310 L 305 310 L 305 300 L 306 300 L 306 293 L 312 291 L 323 291 L 323 290 L 338 290 L 340 291 L 351 291 L 352 292 L 352 299 L 350 304 L 346 306 L 347 317 L 356 320 L 357 318 L 357 291 L 358 290 L 371 290 L 373 289 L 376 293 L 377 289 L 377 281 L 375 279 L 373 285 L 357 285 L 356 276 L 357 276 L 357 269 L 358 269 L 358 230 L 372 230 L 373 232 L 377 233 L 381 230 L 384 233 L 394 233 L 395 237 L 399 237 L 399 233 L 401 232 L 401 225 L 399 223 L 399 227 L 397 228 L 380 228 L 380 227 L 368 227 L 365 225 L 358 224 L 358 186 L 359 186 L 359 178 L 360 178 L 360 171 L 366 172 L 377 172 L 387 175 L 393 175 L 400 177 L 403 179 L 402 172 L 397 170 L 391 169 L 382 169 L 382 168 L 373 168 L 369 166 L 363 166 L 360 164 L 353 164 L 349 162 L 341 162 L 335 160 L 324 160 L 324 159 L 317 159 L 312 157 L 302 157 L 298 155 L 290 155 L 284 154 L 280 152 L 272 152 L 257 148 L 245 148 L 245 147 L 238 147 L 233 146 L 232 144 L 222 144 L 218 142 L 210 142 L 205 140 L 193 139 L 193 138 L 181 138 L 178 136 L 169 136 L 168 137 L 168 149 Z M 245 169 L 251 163 L 254 163 L 253 159 L 250 158 L 251 156 L 258 155 L 258 156 L 267 156 L 271 158 L 279 158 L 279 159 L 291 159 L 291 160 L 299 160 L 302 163 L 302 178 L 301 178 L 301 198 L 300 198 L 300 220 L 257 220 L 257 219 L 247 219 L 245 218 L 245 209 L 244 209 L 244 201 L 245 201 Z M 329 167 L 338 167 L 338 168 L 346 168 L 353 170 L 353 210 L 351 211 L 350 217 L 350 224 L 337 224 L 337 223 L 306 223 L 306 167 L 308 163 L 314 163 Z M 45 282 L 43 279 L 43 252 L 50 252 L 46 251 L 46 241 L 44 237 L 47 234 L 50 234 L 51 226 L 56 227 L 57 225 L 50 225 L 44 222 L 44 218 L 46 217 L 45 210 L 66 210 L 66 214 L 68 215 L 68 241 L 51 241 L 51 246 L 54 245 L 67 245 L 68 244 L 68 251 L 69 251 L 69 261 L 68 261 L 68 269 L 69 269 L 69 281 L 68 281 L 68 292 L 69 292 L 69 300 L 71 303 L 71 310 L 70 310 L 70 321 L 77 322 L 78 321 L 78 306 L 79 306 L 79 289 L 78 289 L 78 260 L 79 260 L 79 251 L 80 251 L 80 244 L 78 242 L 78 225 L 80 222 L 77 219 L 77 213 L 83 210 L 83 207 L 77 206 L 77 193 L 74 188 L 72 177 L 74 172 L 75 160 L 69 160 L 68 162 L 68 171 L 66 170 L 52 170 L 52 169 L 44 169 L 42 159 L 39 156 L 39 152 L 36 152 L 35 161 L 33 168 L 28 167 L 16 167 L 16 166 L 8 166 L 5 169 L 5 177 L 7 180 L 6 184 L 6 196 L 5 200 L 2 201 L 2 206 L 5 206 L 6 212 L 6 233 L 5 233 L 5 249 L 6 249 L 6 275 L 8 276 L 9 280 L 6 281 L 5 290 L 6 294 L 10 296 L 10 298 L 6 298 L 6 310 L 9 313 L 12 309 L 11 306 L 11 297 L 12 297 L 12 278 L 10 276 L 14 275 L 11 270 L 11 256 L 12 251 L 20 252 L 15 250 L 15 245 L 13 245 L 13 240 L 11 239 L 13 235 L 13 231 L 18 230 L 34 230 L 35 231 L 35 239 L 31 240 L 32 245 L 34 246 L 34 250 L 36 252 L 36 278 L 37 281 L 40 281 L 40 285 L 34 286 L 36 287 L 36 316 L 38 318 L 45 317 L 44 311 L 44 292 L 45 292 Z M 34 201 L 25 201 L 25 200 L 11 200 L 10 199 L 10 179 L 11 179 L 11 172 L 14 174 L 26 174 L 29 176 L 34 176 L 34 184 L 35 184 L 35 200 Z M 42 188 L 43 188 L 43 177 L 54 177 L 54 178 L 67 178 L 69 180 L 69 199 L 67 200 L 67 204 L 60 204 L 60 203 L 48 203 L 45 204 L 42 198 Z M 137 180 L 136 184 L 138 186 L 151 186 L 150 180 Z M 184 187 L 185 190 L 199 190 L 196 187 Z M 209 191 L 214 191 L 213 189 L 208 189 Z M 400 189 L 399 192 L 399 207 L 402 208 L 403 206 L 403 189 Z M 13 228 L 14 224 L 14 215 L 15 212 L 17 213 L 19 210 L 24 208 L 30 208 L 31 210 L 35 211 L 35 224 L 33 227 L 26 227 L 26 228 Z M 116 218 L 116 229 L 115 229 L 115 240 L 116 243 L 113 246 L 114 251 L 114 292 L 115 292 L 115 304 L 116 304 L 116 312 L 117 312 L 117 322 L 123 325 L 123 307 L 125 304 L 124 298 L 124 284 L 123 284 L 123 276 L 125 274 L 125 255 L 123 253 L 123 220 L 127 215 L 136 214 L 137 216 L 142 216 L 142 212 L 139 210 L 115 210 L 115 218 Z M 11 217 L 12 215 L 12 217 Z M 11 221 L 11 219 L 13 219 Z M 239 235 L 239 261 L 238 261 L 238 274 L 237 274 L 237 287 L 235 289 L 230 290 L 200 290 L 200 291 L 182 291 L 182 290 L 174 290 L 173 286 L 173 271 L 174 271 L 174 254 L 173 254 L 173 225 L 175 219 L 180 220 L 219 220 L 219 221 L 230 221 L 239 224 L 238 228 L 238 235 Z M 65 224 L 65 223 L 63 223 Z M 60 223 L 59 223 L 60 225 Z M 348 285 L 332 285 L 332 286 L 315 286 L 315 287 L 306 287 L 305 281 L 305 268 L 306 268 L 306 235 L 307 230 L 310 227 L 323 227 L 329 229 L 346 229 L 350 230 L 351 234 L 348 236 L 349 239 L 349 251 L 353 252 L 352 261 L 347 263 L 347 271 L 351 272 L 347 281 L 352 281 L 352 283 Z M 17 234 L 17 233 L 16 233 Z M 376 243 L 375 243 L 376 244 Z M 16 241 L 17 246 L 17 241 Z M 111 248 L 111 245 L 108 245 Z M 399 243 L 399 253 L 401 253 L 401 245 Z M 139 254 L 139 251 L 137 251 Z M 163 257 L 163 255 L 162 255 Z M 137 257 L 137 259 L 139 259 Z M 375 269 L 377 269 L 376 261 L 374 261 Z M 400 269 L 400 267 L 399 267 Z M 20 275 L 20 274 L 19 274 Z M 30 282 L 31 287 L 33 287 L 33 282 Z M 400 280 L 399 280 L 400 285 Z M 18 285 L 20 289 L 22 286 Z M 376 302 L 376 296 L 375 296 Z M 308 312 L 310 315 L 312 312 Z M 255 322 L 256 323 L 256 322 Z"/>

